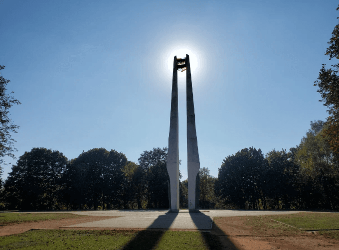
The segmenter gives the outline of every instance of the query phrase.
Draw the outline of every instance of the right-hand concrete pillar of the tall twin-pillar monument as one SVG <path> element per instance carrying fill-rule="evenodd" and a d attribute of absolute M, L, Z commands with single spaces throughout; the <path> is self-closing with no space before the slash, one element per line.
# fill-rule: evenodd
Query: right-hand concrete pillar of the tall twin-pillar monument
<path fill-rule="evenodd" d="M 189 56 L 186 54 L 186 112 L 187 112 L 187 172 L 188 210 L 199 211 L 199 152 L 195 129 L 195 114 Z"/>

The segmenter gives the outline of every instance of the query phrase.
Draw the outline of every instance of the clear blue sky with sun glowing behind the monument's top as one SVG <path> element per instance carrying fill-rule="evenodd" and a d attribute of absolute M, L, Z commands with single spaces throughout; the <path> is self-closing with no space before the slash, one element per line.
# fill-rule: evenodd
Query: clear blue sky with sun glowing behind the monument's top
<path fill-rule="evenodd" d="M 1 0 L 0 65 L 19 157 L 168 146 L 174 55 L 190 56 L 200 167 L 217 177 L 245 147 L 296 146 L 328 117 L 314 81 L 336 0 Z M 169 65 L 168 65 L 169 64 Z M 187 178 L 186 72 L 178 72 L 179 158 Z M 15 160 L 8 159 L 15 164 Z M 10 172 L 4 166 L 3 178 Z"/>

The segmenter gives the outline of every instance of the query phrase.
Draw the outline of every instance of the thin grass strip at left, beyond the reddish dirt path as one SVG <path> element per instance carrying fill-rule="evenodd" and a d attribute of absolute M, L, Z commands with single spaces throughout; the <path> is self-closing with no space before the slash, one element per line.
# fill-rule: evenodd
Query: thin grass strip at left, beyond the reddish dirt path
<path fill-rule="evenodd" d="M 28 213 L 0 213 L 0 225 L 7 225 L 11 223 L 23 223 L 28 221 L 45 221 L 45 220 L 57 220 L 63 218 L 76 218 L 83 217 L 83 215 L 74 214 L 28 214 Z"/>

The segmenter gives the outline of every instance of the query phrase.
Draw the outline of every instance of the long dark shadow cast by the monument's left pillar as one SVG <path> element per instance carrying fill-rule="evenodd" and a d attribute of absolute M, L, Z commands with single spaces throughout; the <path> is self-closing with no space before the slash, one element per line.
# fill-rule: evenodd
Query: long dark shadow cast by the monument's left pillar
<path fill-rule="evenodd" d="M 159 216 L 146 230 L 140 231 L 128 242 L 122 250 L 150 250 L 154 249 L 178 213 L 167 212 Z"/>

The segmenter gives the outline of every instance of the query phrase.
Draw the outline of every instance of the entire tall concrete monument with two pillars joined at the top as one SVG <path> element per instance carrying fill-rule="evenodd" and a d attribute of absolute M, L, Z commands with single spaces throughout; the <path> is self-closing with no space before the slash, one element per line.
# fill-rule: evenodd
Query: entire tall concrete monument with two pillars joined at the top
<path fill-rule="evenodd" d="M 167 171 L 169 173 L 169 211 L 179 211 L 179 137 L 178 137 L 178 84 L 177 71 L 186 70 L 186 113 L 187 113 L 187 173 L 188 210 L 199 211 L 199 153 L 196 139 L 192 79 L 189 56 L 173 61 L 172 96 L 169 123 L 169 151 Z"/>

